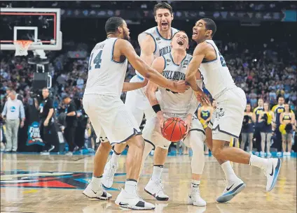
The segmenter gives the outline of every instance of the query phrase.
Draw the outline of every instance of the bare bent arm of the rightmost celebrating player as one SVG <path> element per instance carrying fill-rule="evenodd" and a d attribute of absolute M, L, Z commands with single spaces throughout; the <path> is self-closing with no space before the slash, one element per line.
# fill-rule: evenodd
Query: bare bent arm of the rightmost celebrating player
<path fill-rule="evenodd" d="M 202 91 L 196 84 L 196 73 L 198 72 L 198 68 L 202 63 L 202 60 L 205 57 L 205 52 L 207 50 L 206 43 L 200 43 L 195 47 L 193 58 L 188 64 L 188 70 L 186 71 L 186 82 L 191 86 L 193 91 Z"/>

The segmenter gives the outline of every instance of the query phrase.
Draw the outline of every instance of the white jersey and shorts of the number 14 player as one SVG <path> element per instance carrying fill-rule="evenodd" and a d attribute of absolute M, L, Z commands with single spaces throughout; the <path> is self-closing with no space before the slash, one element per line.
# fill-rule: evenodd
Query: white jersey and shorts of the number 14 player
<path fill-rule="evenodd" d="M 97 43 L 91 52 L 88 81 L 83 96 L 83 108 L 90 117 L 96 135 L 109 138 L 111 145 L 126 142 L 141 134 L 130 110 L 120 99 L 127 59 L 113 60 L 113 48 L 118 38 Z M 103 141 L 102 141 L 103 142 Z"/>

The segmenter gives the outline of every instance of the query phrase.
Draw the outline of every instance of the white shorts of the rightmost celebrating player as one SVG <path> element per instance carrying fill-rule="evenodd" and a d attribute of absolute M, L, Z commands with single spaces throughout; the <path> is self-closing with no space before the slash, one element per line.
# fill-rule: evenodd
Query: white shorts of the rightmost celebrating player
<path fill-rule="evenodd" d="M 216 110 L 208 126 L 212 128 L 212 139 L 230 141 L 238 138 L 242 128 L 247 98 L 240 87 L 228 89 L 216 98 Z"/>

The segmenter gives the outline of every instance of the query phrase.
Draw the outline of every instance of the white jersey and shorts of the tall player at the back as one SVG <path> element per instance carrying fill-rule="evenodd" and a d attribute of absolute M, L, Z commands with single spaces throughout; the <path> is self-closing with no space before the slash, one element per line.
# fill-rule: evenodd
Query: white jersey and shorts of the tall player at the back
<path fill-rule="evenodd" d="M 177 29 L 171 28 L 171 35 L 173 36 L 178 31 L 179 30 Z M 162 56 L 163 54 L 171 52 L 170 43 L 172 39 L 163 38 L 158 31 L 158 27 L 152 27 L 151 29 L 148 29 L 139 34 L 139 44 L 144 41 L 147 35 L 150 35 L 155 42 L 155 51 L 153 52 L 153 56 L 155 59 Z M 130 82 L 142 82 L 144 80 L 144 77 L 140 73 L 138 73 L 137 71 L 136 73 L 137 75 L 134 75 Z M 144 114 L 146 115 L 146 119 L 152 117 L 155 114 L 155 112 L 153 112 L 153 109 L 151 108 L 150 103 L 148 102 L 148 99 L 146 98 L 146 95 L 144 94 L 145 90 L 146 87 L 133 91 L 127 91 L 125 100 L 125 105 L 132 112 L 139 126 L 141 124 L 142 117 L 144 117 Z"/>

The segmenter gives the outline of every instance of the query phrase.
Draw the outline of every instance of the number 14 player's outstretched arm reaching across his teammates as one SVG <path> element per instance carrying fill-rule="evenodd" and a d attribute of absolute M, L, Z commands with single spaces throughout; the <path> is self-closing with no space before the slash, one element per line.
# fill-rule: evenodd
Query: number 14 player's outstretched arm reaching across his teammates
<path fill-rule="evenodd" d="M 118 39 L 116 41 L 116 49 L 120 50 L 120 54 L 124 55 L 130 64 L 136 69 L 144 78 L 155 82 L 157 85 L 170 89 L 176 92 L 184 92 L 188 89 L 186 86 L 186 82 L 179 81 L 173 82 L 171 80 L 167 80 L 163 77 L 158 71 L 151 68 L 144 62 L 135 52 L 132 45 L 123 39 Z"/>

